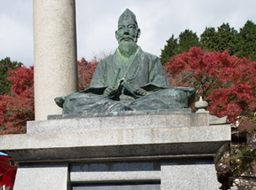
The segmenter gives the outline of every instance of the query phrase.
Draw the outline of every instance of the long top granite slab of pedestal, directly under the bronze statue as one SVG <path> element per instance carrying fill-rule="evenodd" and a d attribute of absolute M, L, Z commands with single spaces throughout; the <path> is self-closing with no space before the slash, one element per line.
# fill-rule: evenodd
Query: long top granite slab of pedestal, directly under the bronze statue
<path fill-rule="evenodd" d="M 190 109 L 189 109 L 190 110 Z M 208 126 L 209 114 L 188 113 L 172 110 L 148 111 L 148 114 L 133 114 L 127 111 L 117 116 L 86 117 L 76 119 L 51 119 L 47 121 L 29 121 L 27 133 L 46 132 L 82 132 L 109 129 L 139 129 L 161 127 L 196 127 Z M 126 114 L 125 114 L 126 113 Z M 113 114 L 113 113 L 112 113 Z"/>

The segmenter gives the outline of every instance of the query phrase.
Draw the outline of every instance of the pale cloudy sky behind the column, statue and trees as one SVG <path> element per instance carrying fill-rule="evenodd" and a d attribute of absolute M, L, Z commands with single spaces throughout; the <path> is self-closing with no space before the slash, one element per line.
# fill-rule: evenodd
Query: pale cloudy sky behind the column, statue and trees
<path fill-rule="evenodd" d="M 76 0 L 77 59 L 117 48 L 115 31 L 126 8 L 137 17 L 143 51 L 160 56 L 166 41 L 190 29 L 199 37 L 205 27 L 229 23 L 237 31 L 256 22 L 255 0 Z M 0 0 L 0 60 L 33 65 L 33 0 Z"/>

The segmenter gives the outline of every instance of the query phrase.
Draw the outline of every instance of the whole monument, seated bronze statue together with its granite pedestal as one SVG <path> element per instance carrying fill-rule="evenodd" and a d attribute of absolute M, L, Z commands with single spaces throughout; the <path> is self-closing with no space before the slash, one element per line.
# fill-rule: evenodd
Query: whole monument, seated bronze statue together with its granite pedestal
<path fill-rule="evenodd" d="M 27 134 L 0 136 L 0 151 L 19 162 L 15 190 L 218 189 L 214 163 L 230 126 L 210 125 L 201 103 L 191 113 L 194 89 L 170 87 L 139 34 L 126 10 L 117 51 L 90 88 L 55 98 L 63 114 L 28 122 Z"/>

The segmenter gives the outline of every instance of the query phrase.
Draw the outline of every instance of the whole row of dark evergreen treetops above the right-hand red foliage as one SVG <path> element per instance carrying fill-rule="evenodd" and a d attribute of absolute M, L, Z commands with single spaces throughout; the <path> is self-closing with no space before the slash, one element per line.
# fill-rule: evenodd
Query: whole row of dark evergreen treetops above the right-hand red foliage
<path fill-rule="evenodd" d="M 247 58 L 256 60 L 256 24 L 248 20 L 240 32 L 231 27 L 228 23 L 222 24 L 217 28 L 206 27 L 201 34 L 200 39 L 196 36 L 196 32 L 186 29 L 179 34 L 179 38 L 174 35 L 161 50 L 161 63 L 166 65 L 176 54 L 188 52 L 193 46 L 202 47 L 206 51 L 218 51 L 223 53 L 228 51 L 229 55 L 236 55 L 239 58 Z"/>

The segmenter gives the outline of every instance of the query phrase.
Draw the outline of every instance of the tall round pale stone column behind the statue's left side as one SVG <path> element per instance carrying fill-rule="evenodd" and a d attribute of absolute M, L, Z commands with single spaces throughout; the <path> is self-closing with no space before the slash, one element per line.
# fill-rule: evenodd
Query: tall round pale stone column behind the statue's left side
<path fill-rule="evenodd" d="M 61 114 L 54 98 L 77 92 L 75 0 L 33 0 L 35 120 Z"/>

